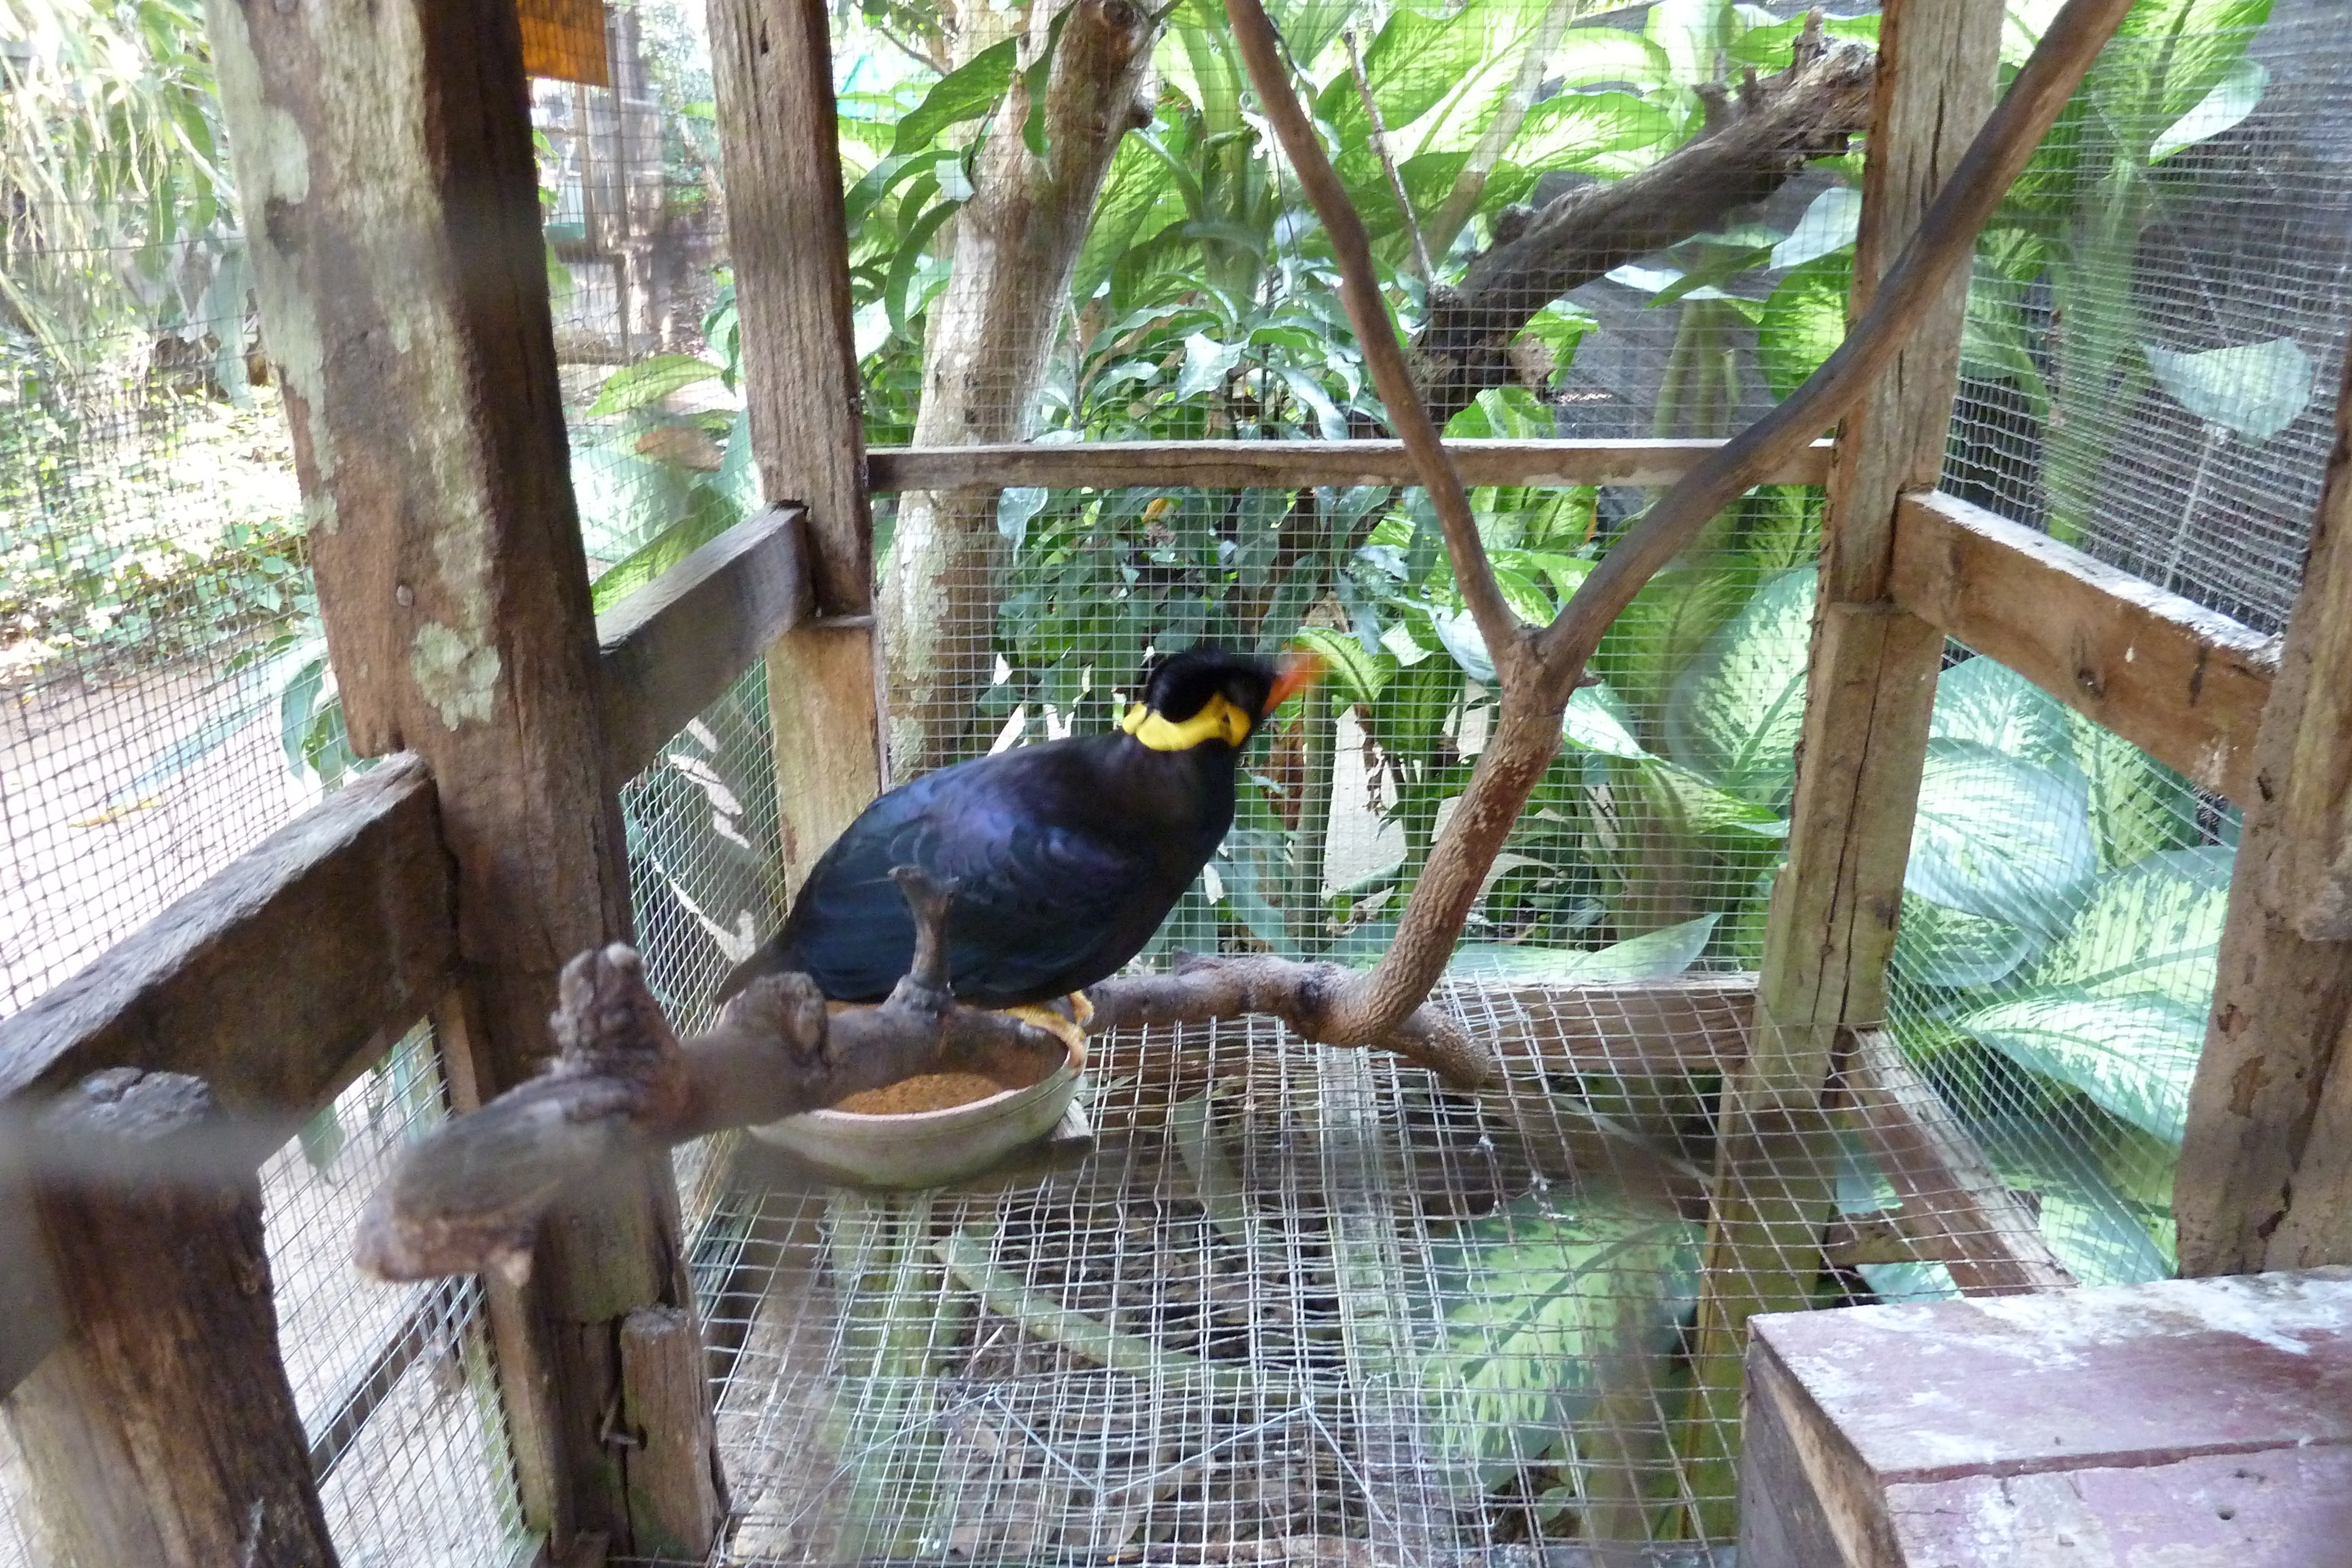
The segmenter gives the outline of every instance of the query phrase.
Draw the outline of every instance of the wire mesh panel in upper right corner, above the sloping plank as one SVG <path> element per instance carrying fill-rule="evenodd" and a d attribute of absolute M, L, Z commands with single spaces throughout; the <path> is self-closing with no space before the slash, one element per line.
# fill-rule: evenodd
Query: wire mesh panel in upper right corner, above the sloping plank
<path fill-rule="evenodd" d="M 2293 0 L 2145 26 L 2178 9 L 2140 7 L 1978 244 L 1945 489 L 2279 630 L 2336 428 L 2352 47 Z"/>

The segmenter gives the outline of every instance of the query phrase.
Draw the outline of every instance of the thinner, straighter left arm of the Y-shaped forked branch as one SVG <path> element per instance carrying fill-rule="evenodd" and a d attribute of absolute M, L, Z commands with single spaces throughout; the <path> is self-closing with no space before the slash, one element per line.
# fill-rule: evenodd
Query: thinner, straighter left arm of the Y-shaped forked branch
<path fill-rule="evenodd" d="M 1315 139 L 1315 127 L 1298 106 L 1298 94 L 1291 92 L 1289 73 L 1282 66 L 1282 45 L 1275 38 L 1275 24 L 1265 19 L 1265 9 L 1258 0 L 1225 0 L 1225 19 L 1232 24 L 1232 40 L 1242 52 L 1242 63 L 1249 68 L 1249 82 L 1258 92 L 1258 108 L 1265 110 L 1268 122 L 1275 127 L 1275 136 L 1282 141 L 1298 183 L 1305 186 L 1308 200 L 1322 219 L 1331 252 L 1338 256 L 1341 301 L 1348 306 L 1348 322 L 1355 327 L 1355 341 L 1371 367 L 1371 381 L 1381 390 L 1381 402 L 1388 404 L 1388 423 L 1395 425 L 1397 437 L 1411 454 L 1414 473 L 1421 475 L 1421 487 L 1430 494 L 1430 505 L 1437 510 L 1437 522 L 1446 536 L 1446 559 L 1454 564 L 1454 581 L 1461 585 L 1463 604 L 1470 607 L 1470 616 L 1477 621 L 1479 637 L 1486 639 L 1486 651 L 1494 656 L 1496 670 L 1515 670 L 1529 656 L 1529 632 L 1519 625 L 1519 618 L 1503 599 L 1503 588 L 1494 581 L 1494 564 L 1477 541 L 1470 496 L 1463 491 L 1461 475 L 1454 473 L 1454 458 L 1446 456 L 1444 442 L 1437 440 L 1437 425 L 1430 423 L 1430 411 L 1421 404 L 1421 393 L 1414 390 L 1414 374 L 1404 364 L 1397 329 L 1388 320 L 1388 301 L 1381 299 L 1381 282 L 1371 270 L 1371 242 L 1364 237 L 1364 221 L 1355 214 L 1355 205 L 1338 183 L 1331 160 L 1324 158 L 1322 143 Z"/>

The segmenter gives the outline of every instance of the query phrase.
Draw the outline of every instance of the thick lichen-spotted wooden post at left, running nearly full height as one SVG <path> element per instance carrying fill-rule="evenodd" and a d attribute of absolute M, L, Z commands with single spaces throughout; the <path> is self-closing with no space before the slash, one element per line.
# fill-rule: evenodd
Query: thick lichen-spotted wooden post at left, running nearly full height
<path fill-rule="evenodd" d="M 515 7 L 212 0 L 209 24 L 343 719 L 440 792 L 463 1110 L 550 1053 L 560 966 L 628 936 Z M 524 1516 L 557 1549 L 630 1549 L 619 1333 L 684 1305 L 680 1255 L 668 1164 L 633 1164 L 492 1314 Z"/>

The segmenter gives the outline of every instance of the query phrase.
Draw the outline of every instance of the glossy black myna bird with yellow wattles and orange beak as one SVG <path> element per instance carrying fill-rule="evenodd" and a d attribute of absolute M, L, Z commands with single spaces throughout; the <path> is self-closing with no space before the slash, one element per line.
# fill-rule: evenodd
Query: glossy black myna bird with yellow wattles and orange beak
<path fill-rule="evenodd" d="M 948 987 L 1021 1011 L 1077 997 L 1143 950 L 1232 825 L 1235 766 L 1322 661 L 1216 646 L 1155 665 L 1108 736 L 1025 745 L 891 790 L 816 860 L 783 929 L 720 985 L 800 971 L 830 1001 L 882 1001 L 915 957 L 915 917 L 891 867 L 955 879 Z M 1080 1023 L 1084 999 L 1077 997 Z"/>

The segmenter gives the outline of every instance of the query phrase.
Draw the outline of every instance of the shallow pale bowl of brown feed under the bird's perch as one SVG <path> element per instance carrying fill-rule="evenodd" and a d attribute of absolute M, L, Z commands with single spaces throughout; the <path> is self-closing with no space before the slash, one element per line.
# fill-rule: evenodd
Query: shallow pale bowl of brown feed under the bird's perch
<path fill-rule="evenodd" d="M 755 1126 L 750 1135 L 856 1187 L 946 1187 L 1042 1143 L 1070 1110 L 1077 1077 L 1065 1056 L 1025 1088 L 964 1105 L 898 1114 L 811 1110 Z"/>

